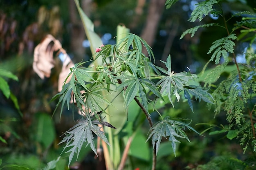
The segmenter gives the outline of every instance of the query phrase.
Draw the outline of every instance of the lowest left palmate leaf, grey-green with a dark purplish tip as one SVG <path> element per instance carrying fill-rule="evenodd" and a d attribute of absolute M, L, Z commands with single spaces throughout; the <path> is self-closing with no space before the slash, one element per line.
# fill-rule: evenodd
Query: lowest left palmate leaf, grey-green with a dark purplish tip
<path fill-rule="evenodd" d="M 80 120 L 78 124 L 70 128 L 65 133 L 66 137 L 64 137 L 59 144 L 66 142 L 66 146 L 64 147 L 64 150 L 68 148 L 69 150 L 66 151 L 66 153 L 71 152 L 69 155 L 68 166 L 70 166 L 70 162 L 72 161 L 75 153 L 77 154 L 77 157 L 78 157 L 84 143 L 87 143 L 85 147 L 87 147 L 90 144 L 91 149 L 97 155 L 92 132 L 94 132 L 97 136 L 99 136 L 103 141 L 105 141 L 109 145 L 108 139 L 106 138 L 104 133 L 100 130 L 100 127 L 90 123 L 88 119 Z"/>

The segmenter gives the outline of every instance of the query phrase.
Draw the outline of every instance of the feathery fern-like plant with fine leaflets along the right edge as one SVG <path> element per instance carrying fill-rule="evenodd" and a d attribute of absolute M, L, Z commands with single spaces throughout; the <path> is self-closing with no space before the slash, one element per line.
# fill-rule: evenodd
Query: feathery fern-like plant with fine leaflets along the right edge
<path fill-rule="evenodd" d="M 225 2 L 224 0 L 198 2 L 195 5 L 195 10 L 191 13 L 190 22 L 198 20 L 201 22 L 205 16 L 214 14 L 219 17 L 219 20 L 222 20 L 221 23 L 223 24 L 214 22 L 201 24 L 186 30 L 181 38 L 188 33 L 193 37 L 199 28 L 210 26 L 226 31 L 226 37 L 215 40 L 212 43 L 207 53 L 211 57 L 201 73 L 201 76 L 205 77 L 201 79 L 204 82 L 204 86 L 211 88 L 211 95 L 216 100 L 216 105 L 208 103 L 209 107 L 214 108 L 215 115 L 225 111 L 228 123 L 227 126 L 222 126 L 222 130 L 212 132 L 212 134 L 227 132 L 228 139 L 239 139 L 244 152 L 248 146 L 252 148 L 253 152 L 256 152 L 256 55 L 254 47 L 256 40 L 256 14 L 251 10 L 232 11 L 231 15 L 225 15 L 226 11 L 222 8 Z M 239 49 L 241 44 L 246 45 L 246 47 Z M 238 57 L 243 57 L 245 62 L 238 62 Z M 205 71 L 212 61 L 217 66 Z M 227 76 L 223 77 L 222 73 L 227 73 Z M 220 77 L 222 79 L 219 79 Z M 215 126 L 211 126 L 209 129 L 213 127 Z"/>

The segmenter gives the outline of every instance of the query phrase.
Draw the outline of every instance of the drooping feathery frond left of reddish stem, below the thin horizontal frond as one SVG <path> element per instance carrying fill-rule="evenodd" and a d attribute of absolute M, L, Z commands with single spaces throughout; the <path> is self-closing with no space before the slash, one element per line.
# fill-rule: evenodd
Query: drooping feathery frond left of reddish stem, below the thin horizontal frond
<path fill-rule="evenodd" d="M 214 49 L 214 53 L 211 56 L 210 61 L 213 61 L 215 59 L 215 64 L 220 63 L 220 57 L 223 56 L 225 62 L 228 62 L 228 52 L 233 53 L 234 52 L 234 46 L 235 43 L 232 40 L 236 40 L 236 35 L 231 34 L 225 38 L 221 38 L 219 40 L 216 40 L 213 42 L 213 45 L 210 47 L 207 54 L 210 54 Z"/>

